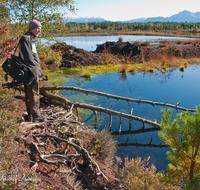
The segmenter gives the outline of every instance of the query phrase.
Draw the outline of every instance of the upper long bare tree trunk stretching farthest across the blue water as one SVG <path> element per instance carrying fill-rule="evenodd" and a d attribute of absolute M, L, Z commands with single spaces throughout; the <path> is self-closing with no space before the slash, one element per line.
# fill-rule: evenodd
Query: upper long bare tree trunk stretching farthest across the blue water
<path fill-rule="evenodd" d="M 85 90 L 85 89 L 81 89 L 81 88 L 76 88 L 76 87 L 71 87 L 71 86 L 55 86 L 55 87 L 42 87 L 42 90 L 73 90 L 73 91 L 78 91 L 78 92 L 83 92 L 85 94 L 95 94 L 95 95 L 99 95 L 99 96 L 105 96 L 107 98 L 114 98 L 116 100 L 124 100 L 127 101 L 128 104 L 129 102 L 135 102 L 135 103 L 145 103 L 145 104 L 151 104 L 152 106 L 167 106 L 167 107 L 171 107 L 171 108 L 175 108 L 175 109 L 180 109 L 183 111 L 191 111 L 191 112 L 195 112 L 195 109 L 188 109 L 188 108 L 184 108 L 184 107 L 180 107 L 179 104 L 180 102 L 178 102 L 176 105 L 172 105 L 172 104 L 168 104 L 167 102 L 162 103 L 162 102 L 155 102 L 155 101 L 149 101 L 149 100 L 141 100 L 141 99 L 132 99 L 132 98 L 126 98 L 126 97 L 122 97 L 122 96 L 116 96 L 116 95 L 112 95 L 112 94 L 107 94 L 107 93 L 103 93 L 103 92 L 97 92 L 97 91 L 93 91 L 93 90 Z"/>

